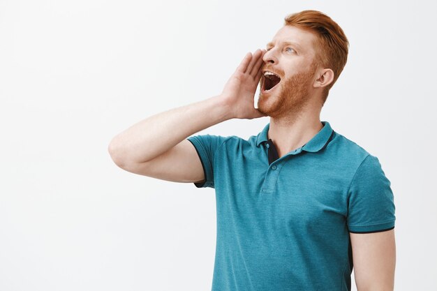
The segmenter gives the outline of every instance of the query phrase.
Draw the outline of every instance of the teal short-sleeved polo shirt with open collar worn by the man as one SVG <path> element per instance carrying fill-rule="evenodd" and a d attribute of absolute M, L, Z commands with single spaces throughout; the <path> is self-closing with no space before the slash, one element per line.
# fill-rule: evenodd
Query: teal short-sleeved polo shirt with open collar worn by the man
<path fill-rule="evenodd" d="M 394 197 L 380 162 L 329 122 L 279 158 L 269 124 L 244 140 L 188 137 L 215 188 L 213 291 L 350 290 L 349 232 L 394 228 Z"/>

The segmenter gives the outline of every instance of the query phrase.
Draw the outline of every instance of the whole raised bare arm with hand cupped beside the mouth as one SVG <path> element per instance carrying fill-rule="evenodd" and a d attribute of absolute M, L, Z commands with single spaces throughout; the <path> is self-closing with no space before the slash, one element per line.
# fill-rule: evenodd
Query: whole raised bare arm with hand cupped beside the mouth
<path fill-rule="evenodd" d="M 119 133 L 108 147 L 114 163 L 158 179 L 202 180 L 202 165 L 186 138 L 228 119 L 265 116 L 253 106 L 264 53 L 246 54 L 222 94 L 155 114 Z"/>

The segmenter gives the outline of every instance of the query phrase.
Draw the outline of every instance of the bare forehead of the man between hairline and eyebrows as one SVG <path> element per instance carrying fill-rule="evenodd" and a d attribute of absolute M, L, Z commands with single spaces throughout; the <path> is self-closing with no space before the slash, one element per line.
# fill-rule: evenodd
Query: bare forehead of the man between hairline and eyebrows
<path fill-rule="evenodd" d="M 272 38 L 272 41 L 267 43 L 269 45 L 276 45 L 279 43 L 293 43 L 304 52 L 313 54 L 314 43 L 316 41 L 316 35 L 314 33 L 299 29 L 298 27 L 292 27 L 290 25 L 284 25 Z"/>

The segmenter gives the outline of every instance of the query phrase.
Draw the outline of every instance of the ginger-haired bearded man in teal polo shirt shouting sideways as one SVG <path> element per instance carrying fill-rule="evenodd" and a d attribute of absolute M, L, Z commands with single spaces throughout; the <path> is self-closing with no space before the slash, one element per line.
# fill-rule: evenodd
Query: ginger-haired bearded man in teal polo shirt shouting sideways
<path fill-rule="evenodd" d="M 320 121 L 347 54 L 327 15 L 288 15 L 220 95 L 149 117 L 110 143 L 124 170 L 215 188 L 212 290 L 350 290 L 353 267 L 358 291 L 394 289 L 390 181 L 376 156 Z M 265 116 L 269 124 L 248 140 L 191 136 Z"/>

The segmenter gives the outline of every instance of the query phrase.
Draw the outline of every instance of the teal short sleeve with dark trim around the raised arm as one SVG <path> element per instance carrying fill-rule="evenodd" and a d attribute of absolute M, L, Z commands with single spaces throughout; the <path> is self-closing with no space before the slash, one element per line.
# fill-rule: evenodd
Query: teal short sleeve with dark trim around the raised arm
<path fill-rule="evenodd" d="M 194 185 L 198 188 L 214 188 L 214 156 L 225 141 L 225 137 L 220 135 L 194 135 L 188 137 L 187 140 L 193 144 L 198 152 L 205 174 L 205 181 L 203 183 L 194 183 Z"/>

